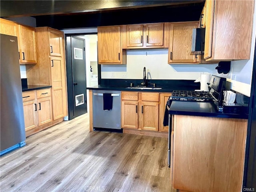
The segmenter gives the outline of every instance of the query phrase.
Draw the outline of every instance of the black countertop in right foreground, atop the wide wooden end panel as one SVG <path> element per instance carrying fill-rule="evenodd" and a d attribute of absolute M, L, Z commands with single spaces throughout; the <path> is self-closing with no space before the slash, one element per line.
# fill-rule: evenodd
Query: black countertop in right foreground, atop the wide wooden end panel
<path fill-rule="evenodd" d="M 169 114 L 248 119 L 248 114 L 246 113 L 231 114 L 219 112 L 214 102 L 172 101 Z"/>

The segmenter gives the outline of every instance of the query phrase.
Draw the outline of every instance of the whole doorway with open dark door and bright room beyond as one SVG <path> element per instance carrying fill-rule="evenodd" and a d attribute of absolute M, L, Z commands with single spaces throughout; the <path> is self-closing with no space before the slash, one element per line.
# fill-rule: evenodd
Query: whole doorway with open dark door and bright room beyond
<path fill-rule="evenodd" d="M 86 87 L 98 85 L 97 34 L 66 34 L 68 120 L 87 113 Z"/>

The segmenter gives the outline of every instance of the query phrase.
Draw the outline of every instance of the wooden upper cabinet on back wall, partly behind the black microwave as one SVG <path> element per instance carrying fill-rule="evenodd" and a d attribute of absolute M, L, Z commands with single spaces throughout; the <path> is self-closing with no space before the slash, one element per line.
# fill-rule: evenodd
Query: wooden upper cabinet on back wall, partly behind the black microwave
<path fill-rule="evenodd" d="M 193 28 L 198 28 L 198 22 L 170 24 L 169 64 L 197 62 L 196 56 L 190 55 Z"/>

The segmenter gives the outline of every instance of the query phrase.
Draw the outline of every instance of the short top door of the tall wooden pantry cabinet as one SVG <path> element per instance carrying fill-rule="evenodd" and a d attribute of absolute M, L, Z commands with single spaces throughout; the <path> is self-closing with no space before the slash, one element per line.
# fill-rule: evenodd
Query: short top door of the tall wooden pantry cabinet
<path fill-rule="evenodd" d="M 62 56 L 62 32 L 48 29 L 50 56 Z"/>

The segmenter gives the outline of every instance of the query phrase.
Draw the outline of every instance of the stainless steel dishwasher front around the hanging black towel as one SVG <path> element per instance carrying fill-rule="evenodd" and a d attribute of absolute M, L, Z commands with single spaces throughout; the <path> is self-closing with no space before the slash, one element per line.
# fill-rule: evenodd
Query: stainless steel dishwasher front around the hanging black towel
<path fill-rule="evenodd" d="M 103 94 L 113 97 L 112 110 L 103 110 Z M 121 129 L 121 92 L 92 90 L 93 127 Z"/>

